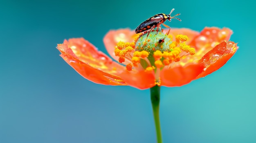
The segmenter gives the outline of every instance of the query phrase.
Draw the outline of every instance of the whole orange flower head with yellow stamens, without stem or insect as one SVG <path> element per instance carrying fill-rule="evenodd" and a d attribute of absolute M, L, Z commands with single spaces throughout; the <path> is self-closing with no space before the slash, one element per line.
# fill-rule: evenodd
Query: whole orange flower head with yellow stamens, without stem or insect
<path fill-rule="evenodd" d="M 169 35 L 130 29 L 109 31 L 103 39 L 110 57 L 83 38 L 58 44 L 61 57 L 85 79 L 103 85 L 139 89 L 183 86 L 222 67 L 238 46 L 228 28 L 171 29 Z M 121 63 L 121 64 L 120 64 Z"/>

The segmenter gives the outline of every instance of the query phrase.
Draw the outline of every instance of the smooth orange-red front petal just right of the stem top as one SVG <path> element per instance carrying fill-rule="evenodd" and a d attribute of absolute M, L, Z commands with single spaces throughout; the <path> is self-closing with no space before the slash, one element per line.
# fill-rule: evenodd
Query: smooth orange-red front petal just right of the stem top
<path fill-rule="evenodd" d="M 177 66 L 164 69 L 160 73 L 161 86 L 174 87 L 188 84 L 202 73 L 203 69 L 204 66 L 202 66 L 202 64 L 191 64 L 186 67 Z"/>

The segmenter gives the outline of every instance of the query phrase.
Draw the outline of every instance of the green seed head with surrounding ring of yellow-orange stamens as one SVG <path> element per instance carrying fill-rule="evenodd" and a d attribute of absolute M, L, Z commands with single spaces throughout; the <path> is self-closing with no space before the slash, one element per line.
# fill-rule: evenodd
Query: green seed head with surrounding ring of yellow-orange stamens
<path fill-rule="evenodd" d="M 119 57 L 120 63 L 125 62 L 128 71 L 154 71 L 159 81 L 160 70 L 171 68 L 183 56 L 195 54 L 195 48 L 185 43 L 187 40 L 186 35 L 176 35 L 173 41 L 172 35 L 151 31 L 141 34 L 134 43 L 118 42 L 115 55 Z"/>

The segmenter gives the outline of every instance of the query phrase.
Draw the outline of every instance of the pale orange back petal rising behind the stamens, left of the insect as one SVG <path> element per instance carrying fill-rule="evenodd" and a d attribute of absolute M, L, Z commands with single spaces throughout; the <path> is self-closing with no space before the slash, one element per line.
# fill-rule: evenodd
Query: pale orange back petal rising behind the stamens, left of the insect
<path fill-rule="evenodd" d="M 115 56 L 114 52 L 117 42 L 134 42 L 138 36 L 139 34 L 135 34 L 135 31 L 131 31 L 130 29 L 111 30 L 105 35 L 103 42 L 109 55 L 118 61 L 119 57 Z"/>

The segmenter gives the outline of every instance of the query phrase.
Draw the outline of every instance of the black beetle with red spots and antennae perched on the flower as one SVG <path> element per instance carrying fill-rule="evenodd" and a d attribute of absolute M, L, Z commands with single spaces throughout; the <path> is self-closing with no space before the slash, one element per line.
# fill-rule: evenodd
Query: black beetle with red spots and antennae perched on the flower
<path fill-rule="evenodd" d="M 171 16 L 171 13 L 173 11 L 174 11 L 174 9 L 172 9 L 170 14 L 168 14 L 168 15 L 166 15 L 164 13 L 159 13 L 159 14 L 156 14 L 156 15 L 148 18 L 147 20 L 145 20 L 144 22 L 139 24 L 139 26 L 135 29 L 135 33 L 141 33 L 141 32 L 149 30 L 149 32 L 148 32 L 148 34 L 149 34 L 155 28 L 157 28 L 157 32 L 158 32 L 158 29 L 159 29 L 160 25 L 163 24 L 166 28 L 169 29 L 169 31 L 167 33 L 167 35 L 168 35 L 170 30 L 171 30 L 171 28 L 170 28 L 170 26 L 164 24 L 164 22 L 166 20 L 171 21 L 171 19 L 173 19 L 173 18 L 181 21 L 180 18 L 176 18 L 175 17 L 177 15 L 180 15 L 180 13 L 178 13 L 178 14 L 176 14 L 174 16 Z M 147 37 L 148 37 L 148 35 L 147 35 Z"/>

